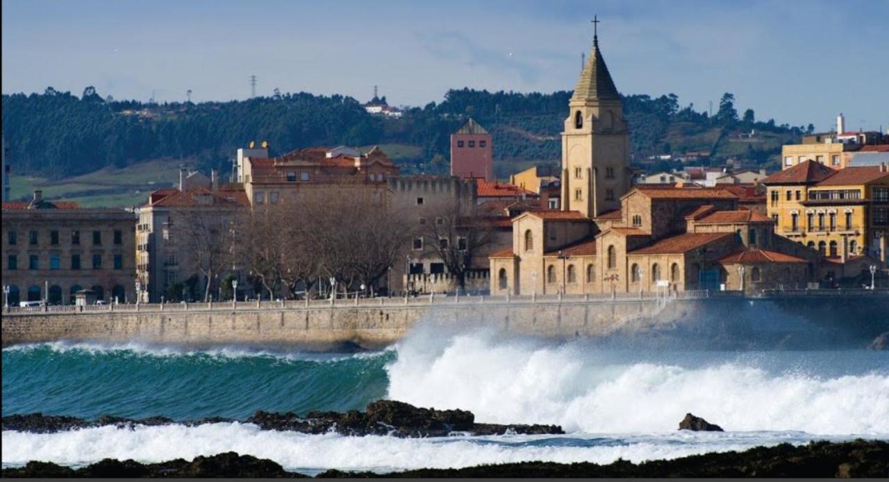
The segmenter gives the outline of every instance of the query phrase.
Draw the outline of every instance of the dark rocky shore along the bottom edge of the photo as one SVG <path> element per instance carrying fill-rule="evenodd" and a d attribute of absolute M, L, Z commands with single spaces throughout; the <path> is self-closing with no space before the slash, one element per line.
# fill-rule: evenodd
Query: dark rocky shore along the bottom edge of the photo
<path fill-rule="evenodd" d="M 857 439 L 851 442 L 812 442 L 805 446 L 758 446 L 743 452 L 725 452 L 632 463 L 622 460 L 605 465 L 591 462 L 517 462 L 479 465 L 466 469 L 421 469 L 390 472 L 327 470 L 317 478 L 418 478 L 418 477 L 565 477 L 565 478 L 882 478 L 889 474 L 889 442 Z M 140 463 L 105 459 L 80 469 L 52 462 L 28 462 L 3 470 L 4 478 L 305 478 L 280 464 L 234 452 L 197 457 L 191 462 Z"/>

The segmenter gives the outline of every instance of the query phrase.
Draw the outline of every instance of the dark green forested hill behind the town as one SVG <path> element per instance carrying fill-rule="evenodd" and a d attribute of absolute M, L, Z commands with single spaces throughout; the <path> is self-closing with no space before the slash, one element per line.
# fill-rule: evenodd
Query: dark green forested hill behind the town
<path fill-rule="evenodd" d="M 413 107 L 400 119 L 364 112 L 356 99 L 304 92 L 230 102 L 143 103 L 103 99 L 92 87 L 81 97 L 47 88 L 42 94 L 3 96 L 3 129 L 17 173 L 66 178 L 106 166 L 157 158 L 190 158 L 197 166 L 228 166 L 238 146 L 268 139 L 273 154 L 313 145 L 415 146 L 398 162 L 404 172 L 445 172 L 449 136 L 466 118 L 493 133 L 499 164 L 557 162 L 570 91 L 551 94 L 448 91 L 440 104 Z M 675 95 L 624 98 L 634 158 L 712 151 L 767 162 L 799 127 L 740 116 L 726 94 L 710 118 Z M 725 139 L 757 130 L 764 141 L 731 146 Z M 725 146 L 723 146 L 725 145 Z"/>

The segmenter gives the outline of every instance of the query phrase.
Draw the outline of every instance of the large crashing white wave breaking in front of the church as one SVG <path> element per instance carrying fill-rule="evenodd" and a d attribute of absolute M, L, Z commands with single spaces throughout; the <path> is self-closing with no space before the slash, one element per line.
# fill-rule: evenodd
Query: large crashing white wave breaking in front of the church
<path fill-rule="evenodd" d="M 742 361 L 621 363 L 590 350 L 420 332 L 398 345 L 387 367 L 388 398 L 470 410 L 480 422 L 558 423 L 565 431 L 675 431 L 691 412 L 727 431 L 889 434 L 889 364 L 821 377 Z"/>

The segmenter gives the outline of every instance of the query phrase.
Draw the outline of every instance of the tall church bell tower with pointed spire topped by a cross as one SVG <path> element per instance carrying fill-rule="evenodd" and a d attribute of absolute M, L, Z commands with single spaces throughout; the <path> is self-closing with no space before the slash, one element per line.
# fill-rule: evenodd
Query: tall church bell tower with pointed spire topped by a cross
<path fill-rule="evenodd" d="M 629 130 L 621 107 L 594 34 L 562 132 L 562 209 L 596 217 L 621 208 L 630 186 Z"/>

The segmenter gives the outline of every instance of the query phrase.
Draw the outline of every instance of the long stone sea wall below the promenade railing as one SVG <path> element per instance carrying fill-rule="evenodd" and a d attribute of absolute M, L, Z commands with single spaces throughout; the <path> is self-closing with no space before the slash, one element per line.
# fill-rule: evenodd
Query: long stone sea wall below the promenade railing
<path fill-rule="evenodd" d="M 789 336 L 802 340 L 818 335 L 831 344 L 849 346 L 869 343 L 889 331 L 889 296 L 365 303 L 15 312 L 4 314 L 3 345 L 64 340 L 378 348 L 397 342 L 421 321 L 559 339 L 615 333 L 632 336 L 660 328 L 685 330 L 697 340 L 756 335 L 768 344 Z"/>

